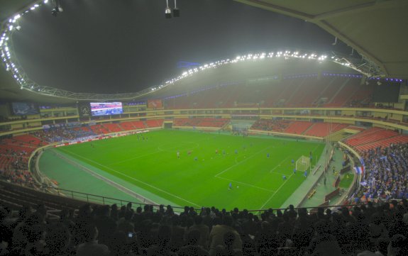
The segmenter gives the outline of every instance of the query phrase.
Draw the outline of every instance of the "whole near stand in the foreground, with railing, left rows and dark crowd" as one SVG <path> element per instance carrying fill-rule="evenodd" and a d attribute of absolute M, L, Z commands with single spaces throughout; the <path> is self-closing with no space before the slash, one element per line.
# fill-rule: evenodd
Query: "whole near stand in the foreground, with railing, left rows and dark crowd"
<path fill-rule="evenodd" d="M 155 253 L 158 247 L 160 255 L 197 255 L 194 252 L 183 254 L 186 250 L 184 245 L 197 247 L 197 238 L 202 235 L 204 240 L 199 255 L 209 255 L 208 250 L 214 250 L 216 245 L 220 246 L 220 250 L 231 249 L 233 245 L 231 252 L 234 254 L 225 252 L 221 255 L 246 256 L 351 256 L 364 250 L 387 252 L 387 247 L 399 247 L 402 252 L 407 249 L 408 224 L 404 221 L 408 213 L 407 201 L 336 205 L 332 209 L 324 201 L 318 207 L 295 208 L 290 205 L 277 209 L 240 211 L 234 208 L 233 211 L 220 211 L 215 207 L 173 208 L 107 198 L 102 200 L 104 205 L 84 204 L 83 201 L 7 183 L 0 190 L 4 191 L 0 197 L 0 209 L 4 213 L 1 221 L 13 223 L 11 227 L 2 226 L 2 231 L 13 238 L 13 243 L 2 244 L 4 255 L 27 255 L 24 252 L 32 252 L 33 245 L 40 242 L 45 246 L 35 247 L 37 255 L 74 255 L 89 237 L 87 227 L 99 231 L 92 242 L 105 248 L 106 253 L 99 255 L 109 255 L 109 250 L 114 252 L 113 255 L 119 255 L 118 252 L 122 252 L 121 255 L 158 255 Z M 75 193 L 65 191 L 65 194 Z M 4 200 L 6 196 L 7 201 Z M 90 196 L 80 197 L 83 200 Z M 109 205 L 111 201 L 114 204 Z M 13 218 L 16 211 L 19 211 L 18 218 Z M 381 218 L 376 218 L 378 212 L 382 212 Z M 43 220 L 40 229 L 38 219 Z M 204 230 L 193 237 L 195 242 L 190 240 L 194 234 L 192 230 L 197 230 L 197 225 L 201 224 L 204 224 L 201 228 Z M 26 232 L 19 233 L 21 230 Z M 45 230 L 48 232 L 45 233 Z M 380 235 L 377 230 L 380 230 Z M 36 235 L 28 236 L 33 233 L 27 231 L 35 231 Z M 128 233 L 131 233 L 131 238 Z M 221 239 L 216 238 L 219 233 Z M 16 238 L 23 239 L 17 243 Z M 65 238 L 71 238 L 71 243 L 63 243 Z M 234 243 L 234 240 L 239 243 Z M 379 246 L 380 243 L 383 245 Z M 54 247 L 51 249 L 50 245 Z M 319 254 L 325 247 L 331 253 Z"/>

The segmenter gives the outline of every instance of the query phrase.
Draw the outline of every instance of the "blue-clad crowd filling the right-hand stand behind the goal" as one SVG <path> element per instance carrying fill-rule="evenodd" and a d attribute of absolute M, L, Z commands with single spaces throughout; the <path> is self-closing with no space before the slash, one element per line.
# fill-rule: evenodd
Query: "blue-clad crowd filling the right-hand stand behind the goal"
<path fill-rule="evenodd" d="M 367 199 L 408 198 L 408 144 L 391 144 L 363 153 L 363 193 Z"/>

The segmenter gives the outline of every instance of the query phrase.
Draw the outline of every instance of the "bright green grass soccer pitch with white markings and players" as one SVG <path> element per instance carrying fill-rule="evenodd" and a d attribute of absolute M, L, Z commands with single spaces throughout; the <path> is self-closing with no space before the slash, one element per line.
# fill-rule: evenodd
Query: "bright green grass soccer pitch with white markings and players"
<path fill-rule="evenodd" d="M 57 150 L 180 206 L 259 209 L 280 207 L 304 182 L 303 173 L 293 173 L 292 159 L 309 152 L 319 159 L 324 149 L 322 143 L 198 131 L 157 130 L 143 137 Z"/>

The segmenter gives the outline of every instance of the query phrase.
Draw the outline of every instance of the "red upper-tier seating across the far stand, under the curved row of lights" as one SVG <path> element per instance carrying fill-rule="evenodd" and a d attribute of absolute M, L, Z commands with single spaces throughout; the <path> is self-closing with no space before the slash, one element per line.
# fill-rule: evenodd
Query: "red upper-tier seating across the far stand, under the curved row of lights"
<path fill-rule="evenodd" d="M 307 90 L 305 90 L 307 88 Z M 355 77 L 285 78 L 269 84 L 231 84 L 200 88 L 182 96 L 165 99 L 166 108 L 310 107 L 323 100 L 327 106 L 343 106 L 348 101 L 370 98 L 373 87 L 360 85 Z M 350 93 L 355 92 L 351 99 Z"/>

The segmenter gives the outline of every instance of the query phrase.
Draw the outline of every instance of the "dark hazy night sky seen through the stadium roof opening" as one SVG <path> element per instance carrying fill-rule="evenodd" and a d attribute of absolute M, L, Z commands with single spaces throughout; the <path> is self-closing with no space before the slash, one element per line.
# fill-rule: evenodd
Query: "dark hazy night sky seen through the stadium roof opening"
<path fill-rule="evenodd" d="M 173 0 L 170 6 L 173 6 Z M 165 19 L 165 0 L 62 0 L 19 20 L 18 60 L 41 85 L 92 93 L 134 92 L 184 69 L 249 52 L 331 50 L 334 37 L 305 21 L 228 0 L 178 0 L 180 18 Z"/>

